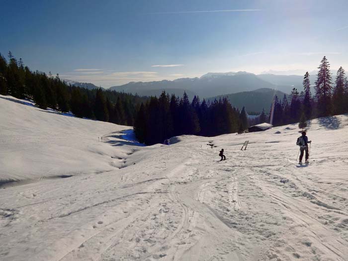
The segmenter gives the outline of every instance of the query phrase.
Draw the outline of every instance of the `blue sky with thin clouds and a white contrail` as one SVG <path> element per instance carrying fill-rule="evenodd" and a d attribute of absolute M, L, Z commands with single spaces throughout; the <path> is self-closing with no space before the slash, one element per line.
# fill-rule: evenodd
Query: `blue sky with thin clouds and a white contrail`
<path fill-rule="evenodd" d="M 347 0 L 0 0 L 0 52 L 110 87 L 348 68 Z"/>

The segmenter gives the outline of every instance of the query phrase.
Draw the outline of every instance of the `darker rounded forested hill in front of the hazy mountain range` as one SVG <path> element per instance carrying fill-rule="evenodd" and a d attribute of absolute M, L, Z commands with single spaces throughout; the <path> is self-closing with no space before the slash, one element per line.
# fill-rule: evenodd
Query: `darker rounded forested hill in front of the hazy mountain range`
<path fill-rule="evenodd" d="M 282 99 L 284 92 L 269 89 L 260 88 L 252 91 L 242 91 L 238 93 L 224 94 L 220 96 L 210 97 L 209 100 L 219 99 L 220 97 L 227 97 L 231 104 L 240 110 L 245 106 L 248 112 L 261 112 L 264 108 L 268 113 L 273 101 L 274 95 L 277 95 L 279 99 Z"/>

